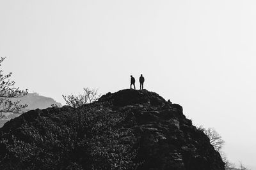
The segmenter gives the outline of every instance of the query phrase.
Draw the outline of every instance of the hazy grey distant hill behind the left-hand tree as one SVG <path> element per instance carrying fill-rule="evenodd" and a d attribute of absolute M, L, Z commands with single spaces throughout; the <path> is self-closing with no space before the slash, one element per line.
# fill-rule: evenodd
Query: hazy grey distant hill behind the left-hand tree
<path fill-rule="evenodd" d="M 29 93 L 28 95 L 20 98 L 20 104 L 28 104 L 28 107 L 23 112 L 36 109 L 46 109 L 51 107 L 52 104 L 61 106 L 61 103 L 54 101 L 51 97 L 40 96 L 37 93 Z M 19 114 L 5 113 L 5 117 L 0 119 L 0 127 L 8 122 L 10 119 L 19 117 Z"/>

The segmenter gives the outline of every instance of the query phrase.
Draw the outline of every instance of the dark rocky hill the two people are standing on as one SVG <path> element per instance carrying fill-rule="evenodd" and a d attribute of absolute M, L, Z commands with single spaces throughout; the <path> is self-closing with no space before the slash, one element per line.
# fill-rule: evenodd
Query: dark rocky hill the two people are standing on
<path fill-rule="evenodd" d="M 33 110 L 0 129 L 0 169 L 225 169 L 182 113 L 147 90 L 121 90 L 74 110 Z"/>

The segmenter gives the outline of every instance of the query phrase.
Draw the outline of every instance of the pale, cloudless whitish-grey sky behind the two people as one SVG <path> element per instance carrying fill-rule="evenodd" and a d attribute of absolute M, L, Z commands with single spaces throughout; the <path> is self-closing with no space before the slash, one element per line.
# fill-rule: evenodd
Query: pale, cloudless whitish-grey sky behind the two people
<path fill-rule="evenodd" d="M 256 166 L 256 1 L 1 0 L 0 56 L 17 87 L 63 103 L 130 75 L 214 127 L 231 162 Z"/>

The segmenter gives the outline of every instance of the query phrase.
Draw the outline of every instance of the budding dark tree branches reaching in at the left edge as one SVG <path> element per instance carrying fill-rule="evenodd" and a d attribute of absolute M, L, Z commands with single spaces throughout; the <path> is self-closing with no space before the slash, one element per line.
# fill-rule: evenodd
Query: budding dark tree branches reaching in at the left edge
<path fill-rule="evenodd" d="M 5 59 L 6 57 L 1 57 L 0 66 Z M 0 117 L 3 117 L 3 113 L 21 113 L 21 110 L 28 106 L 20 104 L 17 100 L 28 94 L 28 89 L 20 90 L 19 87 L 14 87 L 15 81 L 10 81 L 10 76 L 12 73 L 4 75 L 0 69 Z"/>

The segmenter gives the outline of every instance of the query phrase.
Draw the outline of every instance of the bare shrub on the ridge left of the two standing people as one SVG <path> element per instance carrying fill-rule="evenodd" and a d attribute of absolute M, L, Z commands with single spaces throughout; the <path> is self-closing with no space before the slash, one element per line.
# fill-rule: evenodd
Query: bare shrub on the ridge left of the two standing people
<path fill-rule="evenodd" d="M 84 93 L 79 94 L 79 96 L 75 96 L 73 94 L 68 96 L 63 96 L 63 99 L 66 101 L 66 104 L 71 106 L 72 108 L 77 108 L 82 106 L 83 104 L 93 103 L 98 101 L 100 98 L 100 94 L 98 94 L 98 90 L 84 88 Z"/>

